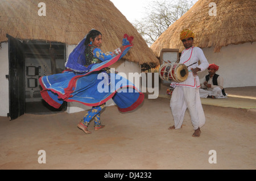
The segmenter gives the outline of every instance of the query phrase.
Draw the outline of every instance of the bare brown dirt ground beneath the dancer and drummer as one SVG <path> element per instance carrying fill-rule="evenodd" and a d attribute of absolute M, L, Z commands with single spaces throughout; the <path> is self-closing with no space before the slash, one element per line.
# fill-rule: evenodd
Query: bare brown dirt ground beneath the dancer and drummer
<path fill-rule="evenodd" d="M 256 99 L 255 87 L 246 91 L 226 90 Z M 0 117 L 0 169 L 256 169 L 255 109 L 203 104 L 206 123 L 195 138 L 188 111 L 183 128 L 168 130 L 169 105 L 170 99 L 158 98 L 128 113 L 106 107 L 106 127 L 94 131 L 92 123 L 92 134 L 77 128 L 85 112 Z M 45 164 L 38 162 L 39 150 L 46 151 Z M 210 150 L 216 163 L 209 163 Z"/>

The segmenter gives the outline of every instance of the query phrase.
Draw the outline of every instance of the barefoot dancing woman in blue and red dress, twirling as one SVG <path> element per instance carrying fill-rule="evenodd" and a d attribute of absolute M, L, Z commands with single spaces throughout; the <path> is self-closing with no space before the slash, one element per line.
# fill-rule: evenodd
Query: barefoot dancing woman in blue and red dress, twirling
<path fill-rule="evenodd" d="M 77 125 L 85 133 L 92 133 L 88 131 L 89 123 L 92 120 L 94 120 L 94 130 L 97 131 L 104 127 L 101 125 L 100 112 L 111 98 L 117 104 L 119 111 L 134 110 L 143 102 L 144 95 L 133 83 L 116 73 L 111 73 L 108 68 L 109 65 L 125 56 L 133 46 L 132 40 L 133 37 L 125 35 L 121 47 L 113 52 L 103 53 L 100 49 L 102 34 L 97 30 L 91 30 L 69 55 L 65 64 L 67 70 L 61 74 L 53 74 L 39 79 L 40 85 L 43 87 L 42 98 L 55 108 L 59 108 L 63 101 L 80 102 L 86 106 L 92 106 L 92 109 Z M 98 78 L 99 74 L 104 75 L 103 79 Z M 114 77 L 114 81 L 113 79 L 110 81 L 111 77 Z M 118 87 L 115 80 L 119 81 L 120 79 L 123 83 L 121 87 Z M 114 87 L 114 91 L 99 91 L 98 85 L 102 81 L 105 82 L 104 86 L 108 86 L 108 90 Z M 128 91 L 128 89 L 133 89 L 133 91 Z"/>

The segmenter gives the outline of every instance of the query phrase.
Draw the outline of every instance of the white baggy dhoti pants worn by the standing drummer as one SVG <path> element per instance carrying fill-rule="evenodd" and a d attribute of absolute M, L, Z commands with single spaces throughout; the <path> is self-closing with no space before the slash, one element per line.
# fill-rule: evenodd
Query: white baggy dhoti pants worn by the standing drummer
<path fill-rule="evenodd" d="M 181 128 L 185 111 L 188 108 L 193 129 L 205 124 L 204 110 L 201 104 L 199 89 L 191 87 L 175 87 L 170 102 L 175 129 Z"/>

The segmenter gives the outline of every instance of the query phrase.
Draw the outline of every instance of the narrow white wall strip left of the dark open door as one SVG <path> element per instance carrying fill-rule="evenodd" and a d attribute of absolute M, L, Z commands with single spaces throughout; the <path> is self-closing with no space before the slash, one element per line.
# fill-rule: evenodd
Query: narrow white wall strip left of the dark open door
<path fill-rule="evenodd" d="M 7 116 L 9 112 L 9 81 L 5 75 L 9 74 L 8 43 L 1 43 L 0 48 L 0 116 Z"/>

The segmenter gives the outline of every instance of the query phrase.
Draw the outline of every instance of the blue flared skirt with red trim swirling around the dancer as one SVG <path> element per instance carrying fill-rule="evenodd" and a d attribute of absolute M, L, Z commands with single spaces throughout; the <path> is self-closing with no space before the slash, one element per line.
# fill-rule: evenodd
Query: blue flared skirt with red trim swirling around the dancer
<path fill-rule="evenodd" d="M 108 81 L 99 76 L 102 68 L 114 64 L 121 57 L 122 54 L 119 54 L 109 61 L 95 64 L 83 74 L 65 70 L 61 74 L 40 77 L 42 98 L 55 108 L 59 108 L 64 101 L 99 106 L 113 99 L 119 111 L 134 110 L 143 102 L 144 94 L 133 83 L 114 73 L 108 74 Z"/>

